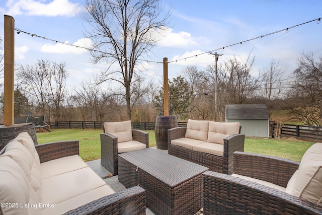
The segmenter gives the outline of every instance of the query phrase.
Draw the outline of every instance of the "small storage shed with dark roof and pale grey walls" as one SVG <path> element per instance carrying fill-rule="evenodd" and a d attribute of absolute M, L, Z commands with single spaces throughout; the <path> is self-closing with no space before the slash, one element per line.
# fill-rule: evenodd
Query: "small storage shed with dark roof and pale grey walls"
<path fill-rule="evenodd" d="M 265 104 L 226 105 L 226 122 L 239 122 L 245 136 L 269 137 L 270 119 Z"/>

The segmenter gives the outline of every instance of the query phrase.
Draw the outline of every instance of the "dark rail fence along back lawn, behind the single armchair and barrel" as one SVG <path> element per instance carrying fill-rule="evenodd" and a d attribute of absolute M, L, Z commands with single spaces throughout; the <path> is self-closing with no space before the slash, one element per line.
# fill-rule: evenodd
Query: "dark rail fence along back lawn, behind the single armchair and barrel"
<path fill-rule="evenodd" d="M 92 128 L 103 129 L 104 122 L 100 121 L 61 121 L 61 122 L 46 122 L 50 128 Z M 187 122 L 178 122 L 179 127 L 187 126 Z M 133 129 L 154 130 L 155 122 L 132 122 Z"/>

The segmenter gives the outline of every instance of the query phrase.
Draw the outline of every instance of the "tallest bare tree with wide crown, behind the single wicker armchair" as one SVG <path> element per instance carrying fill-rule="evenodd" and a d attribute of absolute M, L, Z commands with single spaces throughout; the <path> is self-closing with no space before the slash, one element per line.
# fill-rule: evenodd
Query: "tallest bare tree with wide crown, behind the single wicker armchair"
<path fill-rule="evenodd" d="M 163 14 L 159 0 L 86 0 L 89 23 L 86 36 L 94 42 L 94 62 L 109 66 L 99 75 L 99 82 L 114 81 L 125 89 L 127 118 L 131 119 L 131 84 L 139 77 L 140 58 L 148 56 L 156 45 L 153 33 L 164 29 L 169 13 Z M 119 69 L 111 70 L 118 63 Z M 135 76 L 136 74 L 136 76 Z"/>

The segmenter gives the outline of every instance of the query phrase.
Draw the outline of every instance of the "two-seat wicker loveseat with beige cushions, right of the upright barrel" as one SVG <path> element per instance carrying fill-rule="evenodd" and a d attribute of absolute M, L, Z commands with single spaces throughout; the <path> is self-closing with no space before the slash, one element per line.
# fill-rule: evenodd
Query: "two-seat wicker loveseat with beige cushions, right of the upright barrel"
<path fill-rule="evenodd" d="M 245 135 L 239 123 L 188 119 L 187 127 L 168 130 L 168 154 L 208 167 L 209 171 L 232 173 L 233 153 L 244 151 Z"/>

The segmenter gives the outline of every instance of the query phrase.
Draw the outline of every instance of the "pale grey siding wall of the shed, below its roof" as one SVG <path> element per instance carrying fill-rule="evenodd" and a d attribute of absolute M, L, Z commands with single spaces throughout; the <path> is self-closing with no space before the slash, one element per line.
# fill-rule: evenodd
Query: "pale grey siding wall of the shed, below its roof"
<path fill-rule="evenodd" d="M 267 119 L 227 119 L 227 122 L 239 122 L 241 134 L 249 137 L 269 137 L 269 120 Z"/>

